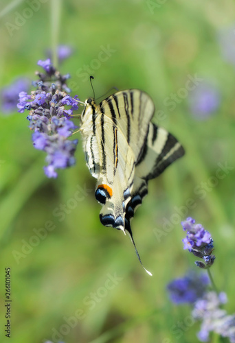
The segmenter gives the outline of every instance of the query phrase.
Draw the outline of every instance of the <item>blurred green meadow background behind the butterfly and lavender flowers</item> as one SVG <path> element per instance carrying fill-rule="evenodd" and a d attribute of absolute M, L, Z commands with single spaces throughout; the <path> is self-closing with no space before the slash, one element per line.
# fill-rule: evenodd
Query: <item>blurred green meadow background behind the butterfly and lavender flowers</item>
<path fill-rule="evenodd" d="M 175 307 L 166 292 L 172 279 L 197 269 L 181 242 L 180 222 L 189 215 L 214 238 L 212 274 L 227 292 L 225 308 L 234 313 L 234 12 L 232 0 L 69 0 L 61 8 L 60 1 L 1 1 L 1 342 L 8 342 L 8 267 L 12 343 L 197 342 L 199 323 L 176 335 L 190 308 Z M 186 149 L 149 182 L 132 222 L 153 277 L 128 237 L 100 224 L 96 180 L 81 141 L 76 166 L 48 179 L 26 114 L 5 105 L 5 87 L 21 77 L 34 80 L 37 61 L 57 43 L 73 49 L 59 65 L 71 74 L 72 95 L 83 101 L 92 96 L 90 74 L 96 97 L 113 86 L 140 88 L 155 102 L 154 122 Z M 74 200 L 78 190 L 80 201 Z M 45 233 L 45 227 L 51 230 Z M 32 238 L 40 233 L 42 238 Z"/>

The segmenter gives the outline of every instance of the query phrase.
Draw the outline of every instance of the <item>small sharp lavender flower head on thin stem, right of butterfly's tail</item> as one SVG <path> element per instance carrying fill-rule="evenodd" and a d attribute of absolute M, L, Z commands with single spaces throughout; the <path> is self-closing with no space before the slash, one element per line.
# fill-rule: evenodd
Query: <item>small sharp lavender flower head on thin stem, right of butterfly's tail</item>
<path fill-rule="evenodd" d="M 187 231 L 186 238 L 182 239 L 183 249 L 188 249 L 189 252 L 204 260 L 204 262 L 195 261 L 199 268 L 210 268 L 215 259 L 212 255 L 214 244 L 210 233 L 201 224 L 195 224 L 195 220 L 191 217 L 181 222 L 181 225 L 183 230 Z"/>

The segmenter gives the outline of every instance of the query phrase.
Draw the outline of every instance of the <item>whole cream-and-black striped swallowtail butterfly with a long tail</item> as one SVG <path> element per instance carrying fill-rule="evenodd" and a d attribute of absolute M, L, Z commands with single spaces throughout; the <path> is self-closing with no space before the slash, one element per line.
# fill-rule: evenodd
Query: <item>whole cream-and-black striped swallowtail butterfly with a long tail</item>
<path fill-rule="evenodd" d="M 172 134 L 150 121 L 154 112 L 147 93 L 128 89 L 99 105 L 87 99 L 80 117 L 87 166 L 97 179 L 95 196 L 102 204 L 100 222 L 128 233 L 141 264 L 131 219 L 148 193 L 148 180 L 184 154 Z"/>

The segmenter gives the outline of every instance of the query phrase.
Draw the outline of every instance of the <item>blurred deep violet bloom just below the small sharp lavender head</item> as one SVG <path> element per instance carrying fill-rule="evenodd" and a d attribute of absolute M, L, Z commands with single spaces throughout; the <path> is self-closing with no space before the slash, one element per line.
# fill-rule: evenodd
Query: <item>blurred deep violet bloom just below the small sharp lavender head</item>
<path fill-rule="evenodd" d="M 176 304 L 194 303 L 203 296 L 208 283 L 207 275 L 190 272 L 183 278 L 175 279 L 168 284 L 170 300 Z"/>

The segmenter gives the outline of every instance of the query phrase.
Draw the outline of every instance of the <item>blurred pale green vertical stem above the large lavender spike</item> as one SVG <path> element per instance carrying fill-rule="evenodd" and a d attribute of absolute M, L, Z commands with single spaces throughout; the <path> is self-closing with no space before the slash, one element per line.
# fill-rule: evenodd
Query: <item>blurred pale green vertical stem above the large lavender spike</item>
<path fill-rule="evenodd" d="M 60 27 L 60 12 L 61 12 L 61 1 L 51 1 L 51 13 L 52 13 L 52 61 L 54 67 L 58 68 L 58 34 Z"/>

